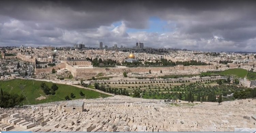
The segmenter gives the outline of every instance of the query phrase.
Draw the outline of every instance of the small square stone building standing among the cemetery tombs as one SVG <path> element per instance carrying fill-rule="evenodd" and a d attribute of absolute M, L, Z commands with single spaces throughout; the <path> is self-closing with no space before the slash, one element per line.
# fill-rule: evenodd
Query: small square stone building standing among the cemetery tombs
<path fill-rule="evenodd" d="M 84 101 L 69 101 L 66 105 L 66 112 L 83 112 L 84 111 Z"/>

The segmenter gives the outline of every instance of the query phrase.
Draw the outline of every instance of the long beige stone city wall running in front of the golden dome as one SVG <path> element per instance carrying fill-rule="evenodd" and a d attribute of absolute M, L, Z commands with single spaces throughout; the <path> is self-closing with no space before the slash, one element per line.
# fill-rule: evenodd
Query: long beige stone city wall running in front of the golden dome
<path fill-rule="evenodd" d="M 234 68 L 245 65 L 253 65 L 254 63 L 241 63 L 241 64 L 229 64 L 229 68 Z M 219 67 L 221 65 L 221 68 L 227 67 L 227 65 L 223 64 L 216 64 L 216 65 L 191 65 L 191 66 L 183 66 L 183 65 L 177 65 L 175 67 L 138 67 L 138 68 L 84 68 L 84 67 L 74 67 L 72 65 L 61 63 L 59 65 L 56 65 L 55 67 L 46 68 L 46 69 L 35 69 L 36 74 L 45 73 L 45 72 L 51 72 L 52 68 L 54 69 L 67 69 L 69 70 L 72 75 L 76 78 L 89 78 L 89 77 L 95 77 L 99 73 L 108 74 L 108 73 L 122 73 L 122 72 L 128 72 L 128 73 L 148 73 L 149 70 L 151 72 L 170 72 L 170 71 L 182 71 L 182 70 L 190 70 L 190 69 L 216 69 L 216 67 Z"/>

